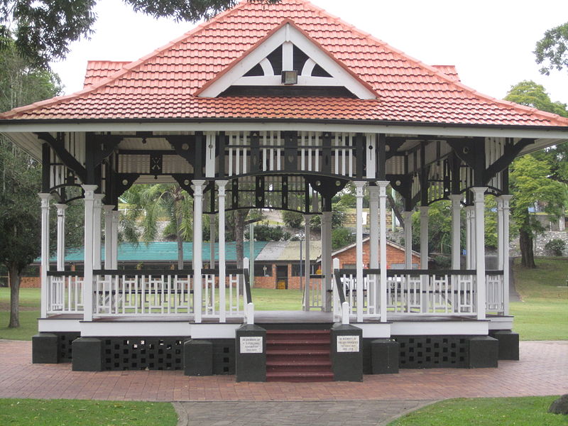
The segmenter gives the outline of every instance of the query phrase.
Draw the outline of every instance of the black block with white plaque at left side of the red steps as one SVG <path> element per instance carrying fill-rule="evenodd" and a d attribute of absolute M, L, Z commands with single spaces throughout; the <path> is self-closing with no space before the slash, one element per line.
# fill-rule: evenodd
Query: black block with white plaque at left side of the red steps
<path fill-rule="evenodd" d="M 236 330 L 236 381 L 266 381 L 266 329 L 244 324 Z"/>

